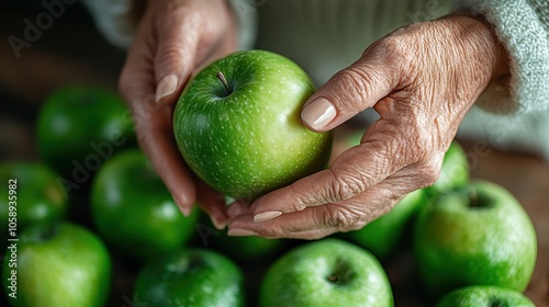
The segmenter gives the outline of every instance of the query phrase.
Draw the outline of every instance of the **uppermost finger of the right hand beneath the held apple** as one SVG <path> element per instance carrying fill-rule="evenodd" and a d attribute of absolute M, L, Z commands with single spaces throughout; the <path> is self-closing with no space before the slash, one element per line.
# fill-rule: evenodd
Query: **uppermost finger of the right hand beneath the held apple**
<path fill-rule="evenodd" d="M 265 221 L 306 207 L 339 203 L 363 193 L 405 166 L 394 146 L 400 147 L 395 137 L 384 133 L 344 151 L 329 169 L 259 197 L 251 207 L 255 220 Z"/>

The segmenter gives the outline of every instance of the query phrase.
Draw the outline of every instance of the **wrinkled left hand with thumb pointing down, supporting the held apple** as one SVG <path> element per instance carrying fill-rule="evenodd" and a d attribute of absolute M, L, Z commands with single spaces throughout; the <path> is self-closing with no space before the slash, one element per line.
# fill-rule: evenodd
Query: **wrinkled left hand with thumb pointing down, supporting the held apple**
<path fill-rule="evenodd" d="M 139 146 L 183 214 L 198 201 L 220 227 L 226 220 L 224 198 L 184 164 L 171 117 L 192 72 L 236 49 L 236 20 L 226 2 L 148 1 L 120 78 Z"/>

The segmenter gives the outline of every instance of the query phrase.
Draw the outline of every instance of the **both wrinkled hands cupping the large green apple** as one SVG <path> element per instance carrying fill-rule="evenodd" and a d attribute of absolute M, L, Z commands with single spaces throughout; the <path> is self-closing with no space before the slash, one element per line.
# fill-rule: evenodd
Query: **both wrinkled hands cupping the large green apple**
<path fill-rule="evenodd" d="M 452 14 L 402 27 L 334 75 L 303 109 L 303 123 L 324 132 L 373 107 L 381 118 L 361 145 L 327 170 L 225 209 L 222 196 L 182 161 L 171 115 L 192 71 L 234 50 L 236 27 L 224 1 L 150 1 L 120 86 L 139 144 L 182 212 L 198 202 L 233 236 L 316 239 L 361 228 L 404 194 L 436 181 L 466 113 L 491 80 L 508 75 L 505 49 L 479 18 Z M 177 87 L 163 95 L 172 87 L 161 80 L 171 73 Z M 334 110 L 328 122 L 314 123 L 318 107 L 309 106 L 318 98 Z"/>

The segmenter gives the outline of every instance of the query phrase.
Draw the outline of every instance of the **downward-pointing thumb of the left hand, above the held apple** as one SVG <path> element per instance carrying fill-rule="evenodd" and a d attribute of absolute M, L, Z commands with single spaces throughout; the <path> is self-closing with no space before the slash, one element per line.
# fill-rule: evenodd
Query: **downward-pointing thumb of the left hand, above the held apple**
<path fill-rule="evenodd" d="M 186 7 L 165 5 L 155 20 L 158 44 L 154 59 L 156 102 L 173 104 L 195 65 L 200 30 Z M 168 11 L 171 10 L 171 11 Z"/>

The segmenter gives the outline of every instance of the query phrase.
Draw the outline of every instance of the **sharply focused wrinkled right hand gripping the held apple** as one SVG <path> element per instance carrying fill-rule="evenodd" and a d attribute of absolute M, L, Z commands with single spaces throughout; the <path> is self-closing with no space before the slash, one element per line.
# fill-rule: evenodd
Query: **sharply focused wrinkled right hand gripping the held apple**
<path fill-rule="evenodd" d="M 329 169 L 227 208 L 228 234 L 315 239 L 361 228 L 406 193 L 433 184 L 463 116 L 508 73 L 491 27 L 467 15 L 416 23 L 372 44 L 305 104 L 302 120 L 329 130 L 373 107 L 380 120 Z"/>

